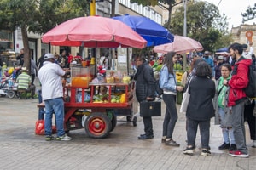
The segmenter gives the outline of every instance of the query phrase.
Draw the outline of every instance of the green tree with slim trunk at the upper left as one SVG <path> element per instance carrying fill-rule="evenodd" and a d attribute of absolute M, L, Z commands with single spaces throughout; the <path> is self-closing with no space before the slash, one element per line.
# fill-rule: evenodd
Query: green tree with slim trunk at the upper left
<path fill-rule="evenodd" d="M 24 66 L 30 69 L 31 55 L 27 32 L 42 34 L 65 20 L 88 14 L 88 1 L 1 0 L 0 29 L 20 28 L 24 46 Z"/>

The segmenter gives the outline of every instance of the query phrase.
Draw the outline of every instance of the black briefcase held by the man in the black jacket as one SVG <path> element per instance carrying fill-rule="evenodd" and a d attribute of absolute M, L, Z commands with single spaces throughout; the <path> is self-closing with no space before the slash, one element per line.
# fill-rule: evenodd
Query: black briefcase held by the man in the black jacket
<path fill-rule="evenodd" d="M 143 101 L 140 103 L 140 116 L 161 116 L 161 101 Z"/>

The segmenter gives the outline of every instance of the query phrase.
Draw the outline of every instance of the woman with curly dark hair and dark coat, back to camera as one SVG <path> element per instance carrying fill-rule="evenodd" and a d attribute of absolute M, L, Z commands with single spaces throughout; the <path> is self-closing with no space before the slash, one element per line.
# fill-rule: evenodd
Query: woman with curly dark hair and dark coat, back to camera
<path fill-rule="evenodd" d="M 188 146 L 183 150 L 184 154 L 193 155 L 195 150 L 195 138 L 197 127 L 201 133 L 201 156 L 211 155 L 209 147 L 210 121 L 214 116 L 212 99 L 215 95 L 215 82 L 209 77 L 212 76 L 212 69 L 206 62 L 197 65 L 195 78 L 189 83 L 189 105 L 186 112 L 188 119 Z"/>

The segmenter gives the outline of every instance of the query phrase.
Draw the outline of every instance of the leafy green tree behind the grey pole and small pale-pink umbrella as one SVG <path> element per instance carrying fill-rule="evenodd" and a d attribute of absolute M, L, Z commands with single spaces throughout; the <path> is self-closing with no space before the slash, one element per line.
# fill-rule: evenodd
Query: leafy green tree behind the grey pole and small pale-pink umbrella
<path fill-rule="evenodd" d="M 183 7 L 177 8 L 172 14 L 171 31 L 173 34 L 183 35 Z M 189 2 L 187 7 L 187 32 L 199 42 L 205 50 L 214 51 L 217 48 L 228 46 L 231 38 L 228 34 L 226 16 L 219 14 L 218 8 L 207 2 Z M 228 38 L 224 40 L 223 37 Z"/>

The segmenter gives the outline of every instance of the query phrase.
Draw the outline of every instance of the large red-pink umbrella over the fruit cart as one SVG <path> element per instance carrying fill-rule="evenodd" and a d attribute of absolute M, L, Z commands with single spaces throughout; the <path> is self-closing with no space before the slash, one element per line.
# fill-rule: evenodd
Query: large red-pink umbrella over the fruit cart
<path fill-rule="evenodd" d="M 56 46 L 89 48 L 144 48 L 147 41 L 119 20 L 101 16 L 79 17 L 55 26 L 42 37 Z"/>

